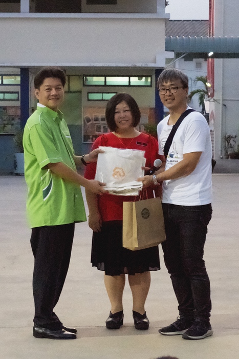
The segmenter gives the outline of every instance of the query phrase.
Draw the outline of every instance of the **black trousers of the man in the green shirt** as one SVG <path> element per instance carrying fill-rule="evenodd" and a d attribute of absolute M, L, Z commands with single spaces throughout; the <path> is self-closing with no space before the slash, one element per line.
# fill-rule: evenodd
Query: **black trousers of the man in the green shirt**
<path fill-rule="evenodd" d="M 33 271 L 33 322 L 43 328 L 62 328 L 53 312 L 69 268 L 75 224 L 32 228 L 31 247 L 35 258 Z"/>

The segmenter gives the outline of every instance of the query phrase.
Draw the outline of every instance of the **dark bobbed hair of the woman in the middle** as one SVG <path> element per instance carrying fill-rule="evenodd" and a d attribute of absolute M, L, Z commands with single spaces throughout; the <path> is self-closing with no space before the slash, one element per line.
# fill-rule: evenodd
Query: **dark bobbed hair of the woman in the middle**
<path fill-rule="evenodd" d="M 106 109 L 105 109 L 105 118 L 108 125 L 108 128 L 111 131 L 116 131 L 117 126 L 115 123 L 115 108 L 119 105 L 122 101 L 125 101 L 128 105 L 129 109 L 131 110 L 134 122 L 133 127 L 136 127 L 140 122 L 141 113 L 139 110 L 139 106 L 135 99 L 129 95 L 128 93 L 117 93 L 116 95 L 112 96 L 111 99 L 107 102 Z"/>

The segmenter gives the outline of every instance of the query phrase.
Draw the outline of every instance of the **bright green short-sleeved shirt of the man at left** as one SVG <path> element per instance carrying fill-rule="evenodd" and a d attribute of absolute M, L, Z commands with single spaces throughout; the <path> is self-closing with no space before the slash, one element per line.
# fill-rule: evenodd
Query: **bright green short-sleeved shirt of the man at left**
<path fill-rule="evenodd" d="M 71 136 L 63 114 L 38 104 L 25 126 L 23 145 L 30 227 L 86 221 L 80 186 L 46 168 L 49 163 L 63 162 L 76 170 Z"/>

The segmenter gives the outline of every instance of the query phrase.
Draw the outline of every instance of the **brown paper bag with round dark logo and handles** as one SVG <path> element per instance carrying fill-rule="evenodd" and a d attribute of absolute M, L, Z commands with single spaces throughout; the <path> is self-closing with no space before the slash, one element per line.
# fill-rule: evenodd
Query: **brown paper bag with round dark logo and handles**
<path fill-rule="evenodd" d="M 123 202 L 123 247 L 136 251 L 165 241 L 160 198 Z"/>

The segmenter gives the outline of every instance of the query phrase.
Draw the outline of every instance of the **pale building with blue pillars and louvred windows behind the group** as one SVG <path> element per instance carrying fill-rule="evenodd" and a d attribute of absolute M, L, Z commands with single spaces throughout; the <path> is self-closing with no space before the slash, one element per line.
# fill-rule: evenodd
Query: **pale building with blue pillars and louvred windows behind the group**
<path fill-rule="evenodd" d="M 76 154 L 107 132 L 104 108 L 114 93 L 134 96 L 140 130 L 158 122 L 163 112 L 155 84 L 165 66 L 168 18 L 165 0 L 1 1 L 0 170 L 12 172 L 13 134 L 35 109 L 33 78 L 43 66 L 66 71 L 61 110 Z"/>

